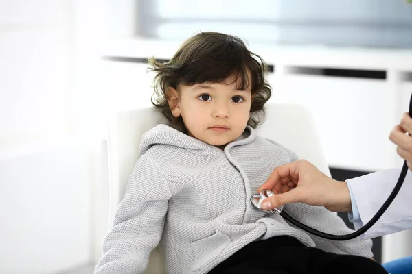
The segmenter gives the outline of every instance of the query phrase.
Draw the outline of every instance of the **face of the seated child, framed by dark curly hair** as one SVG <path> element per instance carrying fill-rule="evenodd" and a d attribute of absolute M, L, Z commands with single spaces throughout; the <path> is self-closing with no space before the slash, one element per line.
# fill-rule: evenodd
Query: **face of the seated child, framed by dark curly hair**
<path fill-rule="evenodd" d="M 231 82 L 179 86 L 179 92 L 172 88 L 172 114 L 182 116 L 190 136 L 220 147 L 244 132 L 253 97 L 249 88 L 237 90 Z"/>

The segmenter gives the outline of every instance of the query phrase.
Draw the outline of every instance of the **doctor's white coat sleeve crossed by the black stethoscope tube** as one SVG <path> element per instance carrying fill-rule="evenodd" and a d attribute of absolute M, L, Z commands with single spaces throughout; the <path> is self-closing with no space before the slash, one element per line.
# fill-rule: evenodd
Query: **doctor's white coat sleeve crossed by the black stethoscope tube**
<path fill-rule="evenodd" d="M 359 219 L 353 216 L 356 230 L 365 225 L 385 203 L 398 182 L 401 169 L 385 169 L 346 182 L 352 190 L 351 199 L 356 201 Z M 353 206 L 354 203 L 352 203 Z M 363 238 L 375 238 L 412 228 L 412 172 L 408 170 L 404 184 L 391 206 L 371 227 Z"/>

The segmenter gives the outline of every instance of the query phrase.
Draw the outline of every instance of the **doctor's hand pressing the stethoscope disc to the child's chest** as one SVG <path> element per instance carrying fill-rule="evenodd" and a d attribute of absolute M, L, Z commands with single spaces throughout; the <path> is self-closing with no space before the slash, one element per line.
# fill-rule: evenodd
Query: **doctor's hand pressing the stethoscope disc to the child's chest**
<path fill-rule="evenodd" d="M 328 177 L 306 160 L 278 166 L 258 188 L 258 192 L 262 189 L 275 193 L 262 201 L 262 209 L 301 202 L 312 206 L 324 206 L 334 212 L 352 212 L 346 182 Z M 268 205 L 264 204 L 266 201 L 269 202 Z"/>

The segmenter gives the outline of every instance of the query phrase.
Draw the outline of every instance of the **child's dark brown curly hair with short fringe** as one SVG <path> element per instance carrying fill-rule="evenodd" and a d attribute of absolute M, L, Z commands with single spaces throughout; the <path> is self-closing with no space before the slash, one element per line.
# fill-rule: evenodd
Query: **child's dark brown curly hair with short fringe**
<path fill-rule="evenodd" d="M 171 127 L 185 131 L 181 116 L 174 117 L 170 110 L 169 87 L 177 90 L 181 84 L 222 83 L 229 77 L 233 77 L 239 90 L 250 85 L 253 101 L 248 125 L 255 128 L 264 120 L 264 104 L 271 97 L 271 86 L 265 79 L 267 66 L 240 38 L 201 32 L 185 40 L 169 62 L 157 61 L 155 57 L 148 62 L 150 70 L 157 73 L 152 104 L 168 119 Z"/>

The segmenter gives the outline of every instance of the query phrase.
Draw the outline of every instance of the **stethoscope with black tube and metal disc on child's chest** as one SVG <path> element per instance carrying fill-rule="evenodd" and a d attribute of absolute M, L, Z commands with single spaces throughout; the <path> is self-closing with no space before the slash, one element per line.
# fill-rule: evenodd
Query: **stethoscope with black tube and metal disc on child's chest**
<path fill-rule="evenodd" d="M 409 116 L 412 118 L 412 95 L 411 95 L 411 100 L 409 101 Z M 292 223 L 296 227 L 299 227 L 300 229 L 303 229 L 306 232 L 309 232 L 310 234 L 313 234 L 315 236 L 319 236 L 321 238 L 325 238 L 328 240 L 350 240 L 353 238 L 356 238 L 360 236 L 361 234 L 364 234 L 369 228 L 371 228 L 372 225 L 378 221 L 380 216 L 387 210 L 387 208 L 391 205 L 393 199 L 395 199 L 396 195 L 398 195 L 398 192 L 400 190 L 400 187 L 402 186 L 405 177 L 407 176 L 407 171 L 408 171 L 408 166 L 407 166 L 407 161 L 404 161 L 404 164 L 402 166 L 402 171 L 400 172 L 398 182 L 396 183 L 396 186 L 393 188 L 391 195 L 389 195 L 388 199 L 383 203 L 382 207 L 376 212 L 375 216 L 370 219 L 370 221 L 364 225 L 361 229 L 357 230 L 356 232 L 353 232 L 351 234 L 347 235 L 334 235 L 334 234 L 328 234 L 325 232 L 320 232 L 317 229 L 313 229 L 312 227 L 308 227 L 307 225 L 304 225 L 303 223 L 293 219 L 292 216 L 290 216 L 288 213 L 286 213 L 284 210 L 280 208 L 273 208 L 271 210 L 262 210 L 260 207 L 260 204 L 262 201 L 268 197 L 271 197 L 275 195 L 271 190 L 261 190 L 260 193 L 255 194 L 251 197 L 251 205 L 258 209 L 262 210 L 263 212 L 266 213 L 274 213 L 278 212 L 280 216 L 282 216 L 286 221 L 289 221 L 289 223 Z M 293 190 L 292 190 L 293 191 Z"/>

